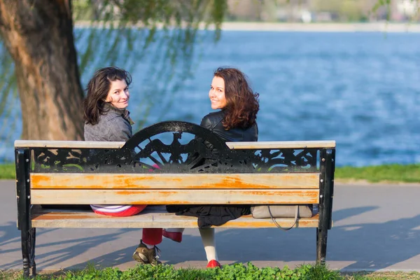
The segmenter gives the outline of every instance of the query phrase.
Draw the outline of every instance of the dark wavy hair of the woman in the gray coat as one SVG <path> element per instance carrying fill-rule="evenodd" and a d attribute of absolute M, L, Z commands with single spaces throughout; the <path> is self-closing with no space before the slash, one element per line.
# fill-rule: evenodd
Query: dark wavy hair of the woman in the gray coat
<path fill-rule="evenodd" d="M 86 98 L 83 100 L 83 119 L 85 123 L 96 125 L 99 115 L 106 113 L 105 101 L 111 89 L 111 82 L 125 80 L 127 86 L 132 83 L 132 76 L 124 69 L 118 67 L 104 67 L 94 72 L 93 77 L 87 83 Z"/>

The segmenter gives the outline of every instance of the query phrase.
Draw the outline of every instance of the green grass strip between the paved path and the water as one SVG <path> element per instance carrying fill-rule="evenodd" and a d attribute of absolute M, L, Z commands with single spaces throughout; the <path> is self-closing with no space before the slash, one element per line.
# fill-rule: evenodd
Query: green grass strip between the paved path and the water
<path fill-rule="evenodd" d="M 0 164 L 0 179 L 15 179 L 13 163 Z M 420 183 L 420 164 L 337 167 L 335 179 L 343 181 Z"/>

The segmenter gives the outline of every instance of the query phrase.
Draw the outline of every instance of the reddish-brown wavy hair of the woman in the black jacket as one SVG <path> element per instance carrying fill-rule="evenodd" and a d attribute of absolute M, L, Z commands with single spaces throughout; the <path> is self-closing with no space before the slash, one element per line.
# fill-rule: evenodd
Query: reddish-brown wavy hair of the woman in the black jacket
<path fill-rule="evenodd" d="M 260 110 L 258 97 L 253 92 L 244 73 L 235 68 L 219 67 L 214 71 L 215 77 L 225 80 L 226 106 L 223 127 L 225 130 L 241 127 L 248 128 L 255 124 L 257 113 Z"/>

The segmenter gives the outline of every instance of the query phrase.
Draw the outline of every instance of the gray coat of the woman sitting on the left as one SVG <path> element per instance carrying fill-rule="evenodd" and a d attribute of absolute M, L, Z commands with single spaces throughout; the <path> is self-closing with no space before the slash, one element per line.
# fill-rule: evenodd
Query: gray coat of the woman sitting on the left
<path fill-rule="evenodd" d="M 96 125 L 85 123 L 85 141 L 127 141 L 132 137 L 130 112 L 106 105 Z"/>

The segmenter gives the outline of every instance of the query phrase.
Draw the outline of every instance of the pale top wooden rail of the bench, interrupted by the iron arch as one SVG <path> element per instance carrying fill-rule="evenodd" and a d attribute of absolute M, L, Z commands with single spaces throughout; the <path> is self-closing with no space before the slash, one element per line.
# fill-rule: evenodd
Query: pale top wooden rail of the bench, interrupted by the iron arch
<path fill-rule="evenodd" d="M 125 142 L 115 141 L 48 141 L 48 140 L 16 140 L 15 148 L 121 148 Z M 232 149 L 260 148 L 335 148 L 335 141 L 258 141 L 227 142 Z"/>

